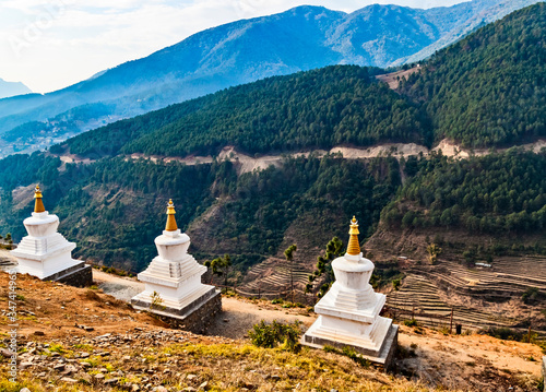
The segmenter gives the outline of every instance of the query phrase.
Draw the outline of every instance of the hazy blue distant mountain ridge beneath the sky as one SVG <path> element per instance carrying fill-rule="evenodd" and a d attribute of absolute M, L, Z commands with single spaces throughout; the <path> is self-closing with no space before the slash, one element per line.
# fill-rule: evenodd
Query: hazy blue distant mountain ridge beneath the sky
<path fill-rule="evenodd" d="M 238 21 L 61 91 L 0 100 L 0 134 L 28 121 L 51 122 L 80 106 L 83 117 L 75 124 L 88 129 L 97 119 L 131 117 L 272 75 L 341 63 L 387 67 L 439 40 L 446 46 L 483 23 L 536 1 L 473 0 L 429 10 L 376 4 L 351 14 L 299 7 Z M 98 103 L 104 105 L 95 106 Z M 40 131 L 47 133 L 48 128 Z M 59 133 L 69 132 L 61 129 Z M 27 149 L 24 141 L 17 143 L 16 149 Z"/>

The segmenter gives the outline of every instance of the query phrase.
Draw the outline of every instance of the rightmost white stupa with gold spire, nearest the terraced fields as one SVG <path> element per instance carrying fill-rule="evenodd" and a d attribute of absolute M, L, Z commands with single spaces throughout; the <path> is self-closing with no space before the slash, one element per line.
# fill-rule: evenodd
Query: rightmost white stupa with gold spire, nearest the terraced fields
<path fill-rule="evenodd" d="M 347 252 L 332 262 L 335 282 L 314 306 L 319 318 L 301 343 L 312 347 L 348 346 L 388 367 L 396 347 L 399 325 L 379 316 L 385 296 L 375 293 L 369 284 L 375 266 L 363 257 L 358 234 L 358 223 L 353 217 Z"/>

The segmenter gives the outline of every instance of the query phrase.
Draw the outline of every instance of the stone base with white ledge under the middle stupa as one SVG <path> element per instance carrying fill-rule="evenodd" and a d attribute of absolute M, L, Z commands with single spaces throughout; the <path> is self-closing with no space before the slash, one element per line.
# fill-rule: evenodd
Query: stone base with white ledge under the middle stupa
<path fill-rule="evenodd" d="M 211 286 L 211 289 L 181 308 L 168 306 L 152 307 L 151 300 L 138 295 L 131 299 L 134 309 L 150 311 L 159 320 L 174 329 L 205 333 L 214 317 L 222 311 L 222 295 Z"/>

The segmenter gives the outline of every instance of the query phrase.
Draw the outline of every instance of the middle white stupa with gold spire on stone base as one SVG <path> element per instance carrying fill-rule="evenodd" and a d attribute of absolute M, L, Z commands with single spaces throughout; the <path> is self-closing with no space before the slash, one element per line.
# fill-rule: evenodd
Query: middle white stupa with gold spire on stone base
<path fill-rule="evenodd" d="M 192 324 L 203 324 L 203 318 L 219 311 L 221 296 L 214 286 L 201 283 L 206 266 L 188 253 L 190 237 L 177 227 L 173 200 L 167 207 L 167 225 L 155 245 L 159 256 L 138 275 L 139 281 L 145 283 L 145 289 L 133 297 L 131 304 L 136 309 L 186 320 L 189 323 L 186 328 L 199 330 L 202 325 L 192 328 Z"/>

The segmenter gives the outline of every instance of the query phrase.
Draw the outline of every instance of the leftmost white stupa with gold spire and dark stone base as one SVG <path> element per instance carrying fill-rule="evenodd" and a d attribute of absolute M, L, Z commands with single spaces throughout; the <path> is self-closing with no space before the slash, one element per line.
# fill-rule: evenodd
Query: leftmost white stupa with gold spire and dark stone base
<path fill-rule="evenodd" d="M 90 285 L 93 281 L 91 266 L 72 259 L 75 243 L 57 233 L 59 217 L 49 214 L 44 207 L 39 186 L 35 189 L 34 199 L 34 212 L 23 222 L 28 236 L 11 251 L 19 261 L 17 272 L 43 281 L 57 281 L 73 286 Z"/>

